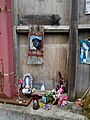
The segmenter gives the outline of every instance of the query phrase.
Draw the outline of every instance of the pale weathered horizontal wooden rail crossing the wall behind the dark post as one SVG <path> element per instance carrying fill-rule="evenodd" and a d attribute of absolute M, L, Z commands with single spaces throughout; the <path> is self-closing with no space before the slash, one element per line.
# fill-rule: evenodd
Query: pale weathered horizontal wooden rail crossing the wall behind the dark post
<path fill-rule="evenodd" d="M 16 31 L 17 33 L 28 33 L 29 32 L 29 25 L 28 26 L 17 26 Z M 44 32 L 45 33 L 69 33 L 70 26 L 69 25 L 59 25 L 59 26 L 51 26 L 51 25 L 45 25 L 44 26 Z M 79 30 L 88 30 L 90 29 L 90 24 L 79 24 L 78 25 Z"/>

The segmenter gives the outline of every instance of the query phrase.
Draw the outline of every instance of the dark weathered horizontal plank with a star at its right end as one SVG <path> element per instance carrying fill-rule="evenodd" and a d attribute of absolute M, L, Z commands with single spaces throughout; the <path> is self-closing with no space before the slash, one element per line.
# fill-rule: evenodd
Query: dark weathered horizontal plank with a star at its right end
<path fill-rule="evenodd" d="M 22 25 L 59 25 L 59 15 L 22 15 L 19 17 L 19 24 Z"/>

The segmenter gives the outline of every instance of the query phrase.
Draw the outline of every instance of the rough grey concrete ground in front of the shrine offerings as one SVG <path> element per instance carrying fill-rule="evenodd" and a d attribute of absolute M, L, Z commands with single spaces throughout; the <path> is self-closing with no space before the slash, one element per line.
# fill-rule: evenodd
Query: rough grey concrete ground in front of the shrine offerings
<path fill-rule="evenodd" d="M 81 115 L 81 108 L 68 102 L 65 107 L 52 105 L 46 111 L 44 108 L 33 110 L 32 102 L 29 106 L 0 104 L 0 120 L 88 120 Z"/>

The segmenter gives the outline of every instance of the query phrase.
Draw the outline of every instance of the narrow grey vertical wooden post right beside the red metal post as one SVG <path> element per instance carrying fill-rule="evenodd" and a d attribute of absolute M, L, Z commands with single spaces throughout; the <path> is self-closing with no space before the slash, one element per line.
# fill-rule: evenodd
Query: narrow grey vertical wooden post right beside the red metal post
<path fill-rule="evenodd" d="M 14 46 L 14 68 L 15 68 L 15 83 L 18 83 L 19 72 L 20 72 L 20 52 L 19 52 L 19 40 L 16 33 L 16 28 L 18 26 L 19 17 L 19 0 L 12 0 L 12 10 L 13 10 L 13 46 Z M 17 9 L 16 9 L 17 8 Z"/>

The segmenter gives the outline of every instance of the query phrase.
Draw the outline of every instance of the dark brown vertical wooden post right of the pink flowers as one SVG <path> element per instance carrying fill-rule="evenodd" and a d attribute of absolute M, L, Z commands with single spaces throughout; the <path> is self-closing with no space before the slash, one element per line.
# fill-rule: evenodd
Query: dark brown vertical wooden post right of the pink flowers
<path fill-rule="evenodd" d="M 78 0 L 71 0 L 71 24 L 69 34 L 68 95 L 75 98 L 76 49 L 78 42 Z"/>

